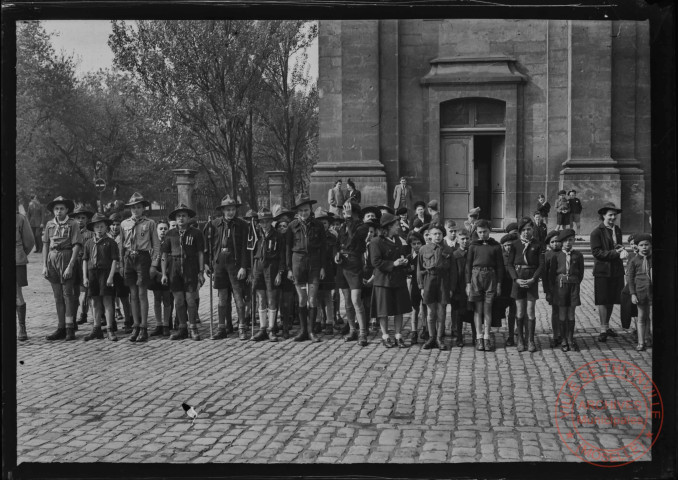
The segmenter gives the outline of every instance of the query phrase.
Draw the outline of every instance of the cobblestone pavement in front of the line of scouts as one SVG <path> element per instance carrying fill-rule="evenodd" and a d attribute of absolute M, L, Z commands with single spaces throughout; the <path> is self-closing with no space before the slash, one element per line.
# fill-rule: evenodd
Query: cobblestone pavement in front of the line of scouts
<path fill-rule="evenodd" d="M 529 354 L 505 348 L 505 326 L 492 353 L 471 346 L 470 329 L 464 348 L 444 352 L 385 349 L 374 336 L 360 348 L 339 335 L 315 344 L 233 336 L 134 344 L 124 334 L 117 343 L 85 343 L 89 325 L 79 341 L 47 342 L 56 324 L 51 289 L 37 254 L 28 268 L 30 339 L 17 346 L 18 463 L 581 461 L 554 420 L 568 375 L 601 358 L 651 371 L 651 350 L 636 352 L 629 334 L 595 340 L 590 272 L 577 314 L 581 352 L 549 348 L 542 300 L 540 349 Z M 207 287 L 201 297 L 205 338 Z M 622 332 L 618 308 L 612 323 Z M 601 387 L 617 398 L 631 390 Z M 182 402 L 198 410 L 193 424 Z M 606 447 L 624 436 L 619 428 L 582 431 Z"/>

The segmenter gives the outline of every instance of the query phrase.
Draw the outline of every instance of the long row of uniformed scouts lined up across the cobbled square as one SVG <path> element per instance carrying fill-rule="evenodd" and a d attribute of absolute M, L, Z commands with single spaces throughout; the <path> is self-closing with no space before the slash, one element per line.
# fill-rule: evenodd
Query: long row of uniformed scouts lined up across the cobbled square
<path fill-rule="evenodd" d="M 109 340 L 117 341 L 114 310 L 116 301 L 122 301 L 129 341 L 146 342 L 148 289 L 153 279 L 158 288 L 171 292 L 178 322 L 170 334 L 168 317 L 158 318 L 156 309 L 156 330 L 150 336 L 200 340 L 198 292 L 207 275 L 218 292 L 214 340 L 235 331 L 231 299 L 241 340 L 278 341 L 279 312 L 283 338 L 288 338 L 291 312 L 285 299 L 291 298 L 287 294 L 293 285 L 299 323 L 294 337 L 297 342 L 321 341 L 321 324 L 327 333 L 333 333 L 329 322 L 335 316 L 336 297 L 331 292 L 337 297 L 341 292 L 347 342 L 368 345 L 371 318 L 379 322 L 386 348 L 407 348 L 421 338 L 424 349 L 447 350 L 445 316 L 450 305 L 457 346 L 464 345 L 463 324 L 470 323 L 476 349 L 494 351 L 492 327 L 501 326 L 501 319 L 507 318 L 506 346 L 534 352 L 535 303 L 541 280 L 546 300 L 552 305 L 552 347 L 579 349 L 573 335 L 575 310 L 581 305 L 584 260 L 573 248 L 574 230 L 552 231 L 542 238 L 537 212 L 535 219 L 525 217 L 510 224 L 497 242 L 490 237 L 491 225 L 480 219 L 477 207 L 468 213 L 463 228 L 457 229 L 452 220 L 441 222 L 436 201 L 416 202 L 412 220 L 406 207 L 361 207 L 349 199 L 334 214 L 321 208 L 314 213 L 315 203 L 302 194 L 291 210 L 278 208 L 274 213 L 262 209 L 252 213 L 248 223 L 237 216 L 241 205 L 227 195 L 218 206 L 222 215 L 204 229 L 197 228 L 196 212 L 181 204 L 169 214 L 175 227 L 167 231 L 168 227 L 158 229 L 156 222 L 144 215 L 150 203 L 139 193 L 125 204 L 131 212 L 125 220 L 119 213 L 106 217 L 75 209 L 69 199 L 55 198 L 47 205 L 54 217 L 47 222 L 42 238 L 42 272 L 52 286 L 57 312 L 57 329 L 47 340 L 74 340 L 78 323 L 87 321 L 82 318 L 91 303 L 94 326 L 84 340 L 104 338 L 105 330 Z M 636 237 L 637 255 L 629 259 L 625 277 L 621 262 L 628 254 L 621 245 L 621 231 L 614 225 L 620 212 L 612 204 L 601 208 L 598 213 L 603 223 L 591 239 L 602 328 L 598 340 L 616 336 L 609 328 L 609 317 L 613 305 L 620 303 L 626 279 L 639 312 L 641 350 L 649 343 L 652 239 L 647 234 Z M 25 265 L 33 242 L 30 224 L 17 213 L 19 340 L 27 339 L 21 287 L 27 285 Z M 85 289 L 82 304 L 80 288 Z M 260 328 L 255 335 L 248 334 L 246 324 L 249 288 L 256 292 L 258 306 Z M 412 309 L 407 345 L 402 335 L 403 315 L 412 313 Z M 255 317 L 254 309 L 251 316 Z M 395 321 L 395 340 L 387 328 L 390 317 Z"/>

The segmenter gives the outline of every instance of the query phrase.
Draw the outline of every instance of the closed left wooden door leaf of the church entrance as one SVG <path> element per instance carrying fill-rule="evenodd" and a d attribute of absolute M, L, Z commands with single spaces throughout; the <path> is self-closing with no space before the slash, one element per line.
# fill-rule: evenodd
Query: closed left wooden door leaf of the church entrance
<path fill-rule="evenodd" d="M 466 220 L 473 199 L 473 136 L 443 136 L 440 141 L 444 218 Z"/>

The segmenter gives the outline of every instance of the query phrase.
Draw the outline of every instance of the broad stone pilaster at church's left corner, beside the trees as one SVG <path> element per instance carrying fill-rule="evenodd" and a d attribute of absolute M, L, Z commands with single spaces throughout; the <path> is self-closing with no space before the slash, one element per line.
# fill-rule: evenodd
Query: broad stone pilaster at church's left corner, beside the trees
<path fill-rule="evenodd" d="M 387 200 L 379 151 L 379 21 L 319 23 L 319 159 L 310 195 L 328 208 L 327 192 L 351 178 L 364 205 Z"/>

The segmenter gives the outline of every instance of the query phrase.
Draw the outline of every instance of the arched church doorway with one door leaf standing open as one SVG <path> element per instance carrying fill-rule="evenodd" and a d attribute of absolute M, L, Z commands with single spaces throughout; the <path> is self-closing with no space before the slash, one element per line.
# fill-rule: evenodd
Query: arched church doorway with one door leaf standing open
<path fill-rule="evenodd" d="M 461 98 L 440 104 L 441 193 L 444 215 L 463 220 L 469 209 L 501 228 L 505 217 L 506 103 Z"/>

